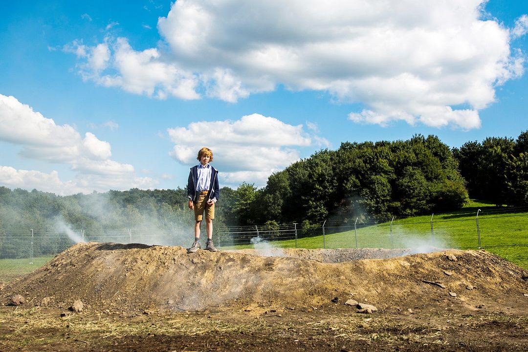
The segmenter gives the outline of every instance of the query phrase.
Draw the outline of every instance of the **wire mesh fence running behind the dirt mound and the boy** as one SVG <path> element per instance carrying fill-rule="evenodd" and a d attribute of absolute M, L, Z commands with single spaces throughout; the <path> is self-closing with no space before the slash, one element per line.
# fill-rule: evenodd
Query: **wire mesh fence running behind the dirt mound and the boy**
<path fill-rule="evenodd" d="M 188 229 L 171 233 L 149 229 L 107 231 L 48 230 L 7 231 L 0 237 L 0 267 L 6 264 L 44 263 L 78 242 L 143 243 L 188 246 Z M 528 248 L 528 213 L 496 212 L 438 217 L 433 221 L 400 220 L 381 224 L 325 222 L 320 225 L 217 227 L 213 235 L 219 249 L 243 248 Z M 519 251 L 528 262 L 526 250 Z M 524 256 L 526 258 L 524 258 Z"/>

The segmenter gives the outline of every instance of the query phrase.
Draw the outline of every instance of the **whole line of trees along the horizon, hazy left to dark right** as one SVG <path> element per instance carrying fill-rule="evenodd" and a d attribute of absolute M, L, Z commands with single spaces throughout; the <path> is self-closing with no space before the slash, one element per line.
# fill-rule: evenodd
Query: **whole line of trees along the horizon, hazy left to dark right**
<path fill-rule="evenodd" d="M 528 205 L 528 131 L 450 148 L 436 136 L 343 142 L 269 176 L 265 187 L 221 188 L 215 226 L 303 226 L 325 220 L 384 221 L 453 211 L 469 198 Z M 184 188 L 75 194 L 0 187 L 0 237 L 6 230 L 192 229 Z"/>

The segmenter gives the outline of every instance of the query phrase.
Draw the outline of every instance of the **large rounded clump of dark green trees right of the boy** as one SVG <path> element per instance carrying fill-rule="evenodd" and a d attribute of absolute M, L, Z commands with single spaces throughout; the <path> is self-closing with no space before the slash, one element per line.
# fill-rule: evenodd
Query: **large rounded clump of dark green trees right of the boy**
<path fill-rule="evenodd" d="M 262 191 L 263 220 L 379 220 L 460 207 L 467 191 L 457 166 L 436 136 L 344 142 L 270 176 Z"/>

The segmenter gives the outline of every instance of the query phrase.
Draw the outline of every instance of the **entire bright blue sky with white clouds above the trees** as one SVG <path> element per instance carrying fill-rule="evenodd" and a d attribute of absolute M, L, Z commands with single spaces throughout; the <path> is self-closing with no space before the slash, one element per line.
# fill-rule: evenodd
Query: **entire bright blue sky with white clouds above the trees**
<path fill-rule="evenodd" d="M 287 5 L 286 5 L 287 4 Z M 221 185 L 344 141 L 528 129 L 524 0 L 2 1 L 0 185 Z"/>

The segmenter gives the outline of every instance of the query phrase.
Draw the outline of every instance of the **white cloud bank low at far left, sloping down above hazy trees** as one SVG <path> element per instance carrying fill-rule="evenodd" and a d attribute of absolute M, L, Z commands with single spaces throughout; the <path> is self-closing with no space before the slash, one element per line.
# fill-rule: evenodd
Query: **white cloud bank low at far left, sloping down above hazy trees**
<path fill-rule="evenodd" d="M 132 165 L 111 160 L 107 141 L 99 140 L 90 132 L 81 137 L 72 126 L 56 125 L 30 106 L 2 94 L 0 126 L 0 141 L 21 146 L 21 156 L 67 164 L 77 172 L 76 179 L 63 182 L 56 171 L 47 174 L 0 165 L 0 184 L 56 194 L 150 188 L 156 184 L 153 179 L 137 177 Z"/>

